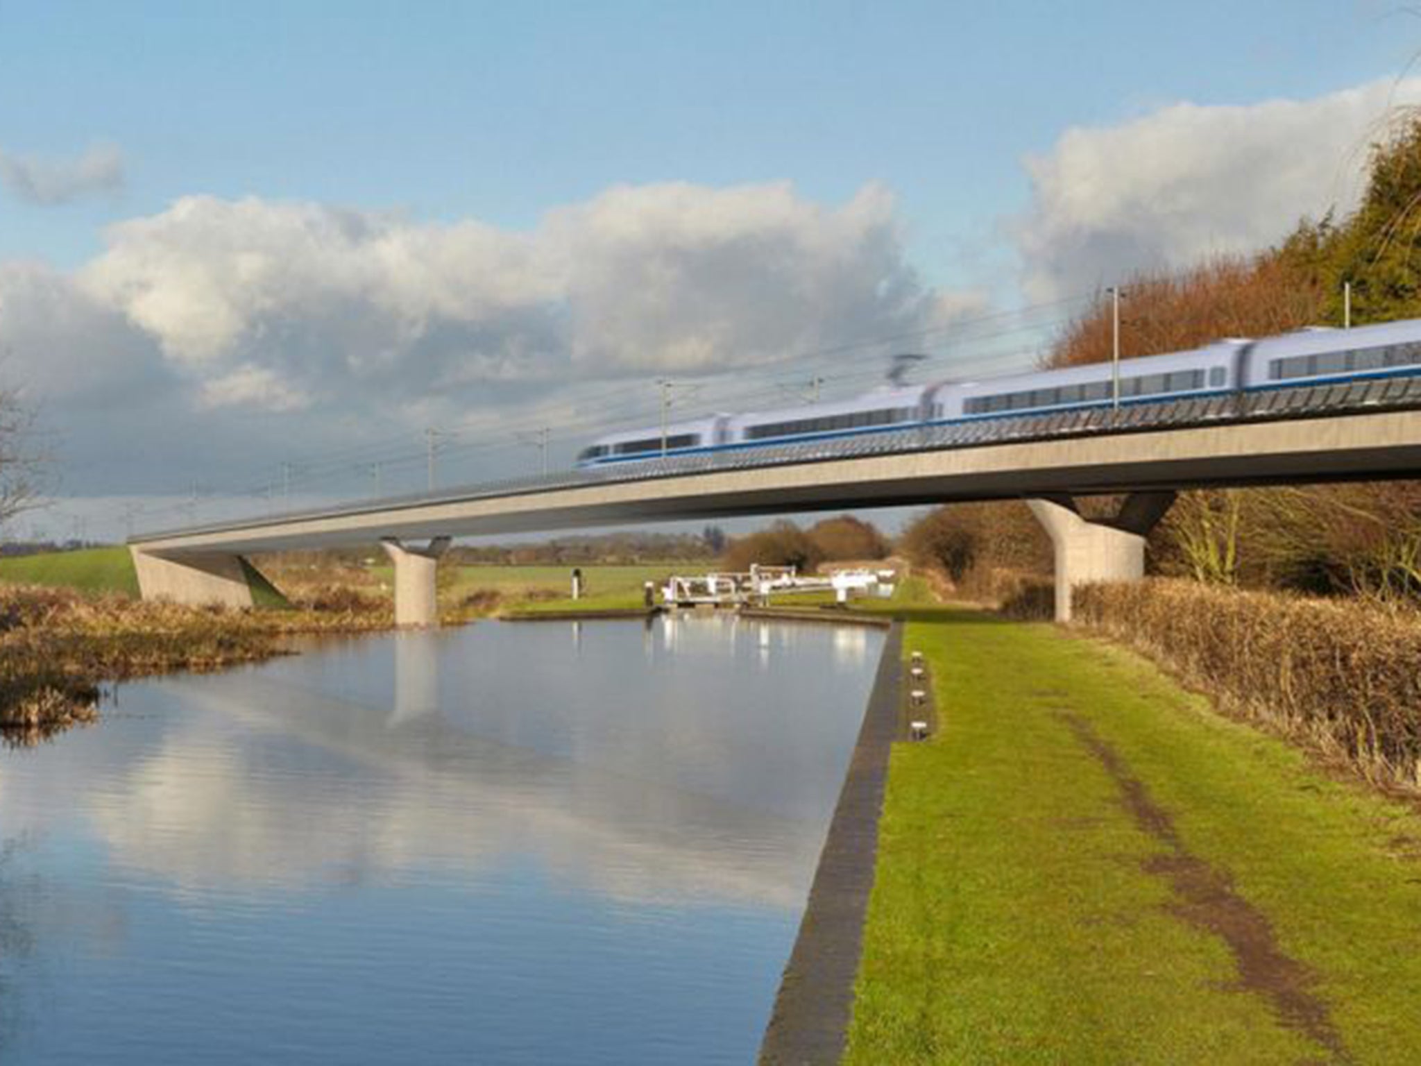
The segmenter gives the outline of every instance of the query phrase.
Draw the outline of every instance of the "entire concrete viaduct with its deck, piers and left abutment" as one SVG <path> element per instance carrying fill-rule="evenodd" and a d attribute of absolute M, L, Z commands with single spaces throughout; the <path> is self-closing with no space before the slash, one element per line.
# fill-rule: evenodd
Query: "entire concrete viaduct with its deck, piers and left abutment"
<path fill-rule="evenodd" d="M 1296 398 L 1248 411 L 1147 405 L 1019 419 L 975 441 L 904 431 L 872 446 L 800 445 L 730 463 L 665 459 L 611 476 L 570 472 L 153 533 L 129 546 L 145 598 L 249 605 L 250 553 L 379 542 L 395 567 L 396 623 L 432 625 L 435 567 L 456 536 L 1025 499 L 1054 544 L 1056 614 L 1066 621 L 1074 586 L 1144 574 L 1145 534 L 1179 489 L 1421 476 L 1421 379 L 1387 395 L 1358 404 L 1347 394 L 1331 409 Z M 1076 497 L 1101 493 L 1125 495 L 1118 515 L 1081 517 Z"/>

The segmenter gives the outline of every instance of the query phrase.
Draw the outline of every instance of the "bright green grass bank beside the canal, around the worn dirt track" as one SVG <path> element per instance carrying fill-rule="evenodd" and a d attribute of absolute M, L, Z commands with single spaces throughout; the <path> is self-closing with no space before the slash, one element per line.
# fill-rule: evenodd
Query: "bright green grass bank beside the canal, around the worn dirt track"
<path fill-rule="evenodd" d="M 1329 780 L 1141 658 L 918 611 L 939 733 L 892 752 L 850 1063 L 1327 1060 L 1181 917 L 1167 853 L 1061 719 L 1086 719 L 1182 846 L 1270 922 L 1354 1062 L 1421 1048 L 1421 817 Z"/>

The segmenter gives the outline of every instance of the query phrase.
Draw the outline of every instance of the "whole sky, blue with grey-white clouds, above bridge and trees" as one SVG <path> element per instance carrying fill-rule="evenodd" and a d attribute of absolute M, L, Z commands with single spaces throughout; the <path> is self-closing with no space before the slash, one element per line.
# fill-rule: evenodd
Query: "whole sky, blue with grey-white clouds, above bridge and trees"
<path fill-rule="evenodd" d="M 1346 208 L 1418 43 L 1323 0 L 0 0 L 0 372 L 112 500 L 426 425 L 504 473 L 476 441 L 570 455 L 658 372 L 902 331 L 985 365 L 953 323 Z"/>

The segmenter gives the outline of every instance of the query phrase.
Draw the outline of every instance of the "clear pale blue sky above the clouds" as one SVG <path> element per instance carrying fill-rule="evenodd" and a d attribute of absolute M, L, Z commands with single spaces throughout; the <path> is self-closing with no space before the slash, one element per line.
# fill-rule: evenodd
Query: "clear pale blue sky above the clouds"
<path fill-rule="evenodd" d="M 1421 20 L 1371 3 L 36 3 L 0 6 L 0 131 L 112 141 L 121 196 L 0 200 L 0 254 L 74 266 L 104 222 L 259 195 L 527 227 L 620 182 L 789 179 L 899 198 L 915 257 L 976 280 L 1019 165 L 1161 104 L 1400 74 Z"/>

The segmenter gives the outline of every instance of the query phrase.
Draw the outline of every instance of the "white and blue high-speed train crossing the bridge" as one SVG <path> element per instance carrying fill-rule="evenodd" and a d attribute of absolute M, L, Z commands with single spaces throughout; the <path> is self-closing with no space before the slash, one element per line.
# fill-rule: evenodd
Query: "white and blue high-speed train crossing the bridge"
<path fill-rule="evenodd" d="M 1228 340 L 1192 351 L 1120 361 L 1120 402 L 1293 388 L 1421 374 L 1421 320 L 1353 330 L 1310 328 L 1260 340 Z M 773 448 L 1043 412 L 1110 407 L 1108 362 L 1013 374 L 985 381 L 884 387 L 854 399 L 777 411 L 710 415 L 665 428 L 598 438 L 581 468 L 662 456 Z M 662 439 L 665 436 L 665 439 Z"/>

